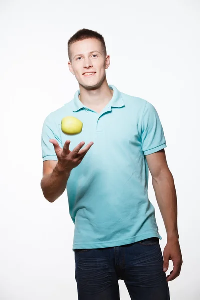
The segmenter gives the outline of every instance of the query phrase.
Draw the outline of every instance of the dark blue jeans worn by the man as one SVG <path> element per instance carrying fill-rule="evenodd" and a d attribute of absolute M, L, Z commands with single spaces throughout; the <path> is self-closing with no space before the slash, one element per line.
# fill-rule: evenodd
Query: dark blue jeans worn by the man
<path fill-rule="evenodd" d="M 157 237 L 74 253 L 78 300 L 120 300 L 118 280 L 132 300 L 170 300 Z"/>

